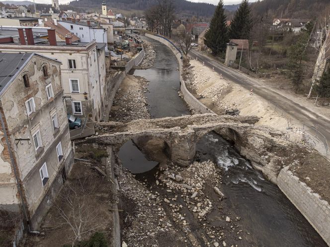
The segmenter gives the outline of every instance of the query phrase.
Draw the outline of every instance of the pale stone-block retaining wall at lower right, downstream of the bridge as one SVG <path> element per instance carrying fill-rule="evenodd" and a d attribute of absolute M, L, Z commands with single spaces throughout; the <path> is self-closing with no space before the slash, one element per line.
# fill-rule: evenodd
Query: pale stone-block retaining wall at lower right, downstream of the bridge
<path fill-rule="evenodd" d="M 330 246 L 330 205 L 288 171 L 281 170 L 277 185 Z"/>

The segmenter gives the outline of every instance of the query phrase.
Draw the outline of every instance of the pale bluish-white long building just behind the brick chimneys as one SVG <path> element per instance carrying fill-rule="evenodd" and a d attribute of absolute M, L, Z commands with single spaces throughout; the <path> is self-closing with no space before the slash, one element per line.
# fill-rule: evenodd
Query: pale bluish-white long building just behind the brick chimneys
<path fill-rule="evenodd" d="M 91 23 L 89 20 L 86 22 L 76 21 L 58 21 L 57 23 L 61 24 L 72 34 L 75 34 L 79 37 L 81 42 L 91 42 L 95 40 L 97 43 L 107 44 L 107 30 L 102 27 L 97 27 L 97 25 Z M 105 51 L 108 52 L 108 47 L 105 46 Z"/>

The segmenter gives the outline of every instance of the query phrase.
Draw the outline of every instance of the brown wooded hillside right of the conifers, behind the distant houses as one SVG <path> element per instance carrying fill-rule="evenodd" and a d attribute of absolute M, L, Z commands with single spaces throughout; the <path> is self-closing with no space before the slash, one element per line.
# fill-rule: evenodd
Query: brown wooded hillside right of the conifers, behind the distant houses
<path fill-rule="evenodd" d="M 330 0 L 261 0 L 251 4 L 257 15 L 270 17 L 314 18 L 330 10 Z"/>

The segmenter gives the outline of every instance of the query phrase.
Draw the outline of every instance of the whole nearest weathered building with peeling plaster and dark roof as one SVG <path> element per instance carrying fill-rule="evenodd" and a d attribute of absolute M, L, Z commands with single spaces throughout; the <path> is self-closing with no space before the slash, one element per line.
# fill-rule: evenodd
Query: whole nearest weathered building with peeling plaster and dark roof
<path fill-rule="evenodd" d="M 0 53 L 0 209 L 39 227 L 70 173 L 74 155 L 61 63 Z"/>

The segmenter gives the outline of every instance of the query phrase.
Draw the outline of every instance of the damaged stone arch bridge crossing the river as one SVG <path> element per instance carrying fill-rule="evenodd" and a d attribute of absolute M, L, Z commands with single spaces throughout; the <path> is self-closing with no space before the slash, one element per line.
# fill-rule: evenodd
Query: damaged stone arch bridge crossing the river
<path fill-rule="evenodd" d="M 257 163 L 266 165 L 257 152 L 267 146 L 285 146 L 279 144 L 278 138 L 283 133 L 269 128 L 255 126 L 257 117 L 219 116 L 216 114 L 196 114 L 182 117 L 169 117 L 152 120 L 135 120 L 128 123 L 100 123 L 100 134 L 84 139 L 92 142 L 111 145 L 114 151 L 129 140 L 159 139 L 164 141 L 166 154 L 175 164 L 188 166 L 195 156 L 197 142 L 208 132 L 215 131 L 235 142 L 236 147 L 249 158 L 256 154 Z M 262 133 L 262 134 L 260 134 Z M 262 147 L 262 148 L 261 148 Z"/>

